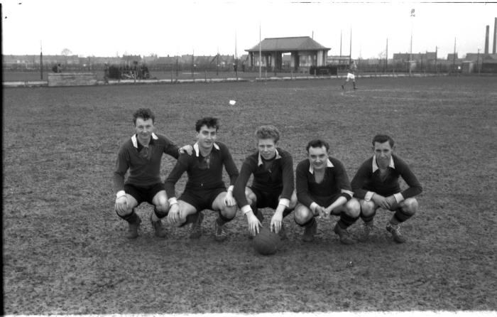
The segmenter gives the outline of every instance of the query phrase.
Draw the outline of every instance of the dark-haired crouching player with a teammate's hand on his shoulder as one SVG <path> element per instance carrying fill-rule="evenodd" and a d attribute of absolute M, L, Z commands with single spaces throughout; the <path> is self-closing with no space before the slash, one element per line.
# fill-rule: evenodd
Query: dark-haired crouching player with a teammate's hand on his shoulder
<path fill-rule="evenodd" d="M 220 242 L 228 237 L 224 225 L 236 215 L 236 200 L 232 192 L 238 168 L 226 145 L 216 141 L 219 130 L 217 118 L 205 117 L 198 120 L 195 130 L 195 154 L 181 155 L 165 180 L 165 190 L 171 206 L 168 222 L 178 227 L 191 223 L 190 239 L 198 239 L 202 235 L 202 210 L 217 211 L 219 215 L 214 223 L 214 239 Z M 230 179 L 228 190 L 222 179 L 223 166 Z M 188 181 L 182 195 L 177 199 L 175 184 L 185 171 Z"/>

